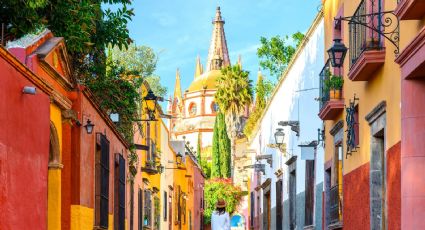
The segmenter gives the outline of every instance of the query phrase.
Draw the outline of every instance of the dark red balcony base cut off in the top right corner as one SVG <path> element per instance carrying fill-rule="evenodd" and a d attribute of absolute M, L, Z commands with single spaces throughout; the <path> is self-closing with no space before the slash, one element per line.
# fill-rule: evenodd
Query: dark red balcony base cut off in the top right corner
<path fill-rule="evenodd" d="M 425 1 L 398 0 L 395 14 L 400 20 L 421 20 L 425 16 Z"/>

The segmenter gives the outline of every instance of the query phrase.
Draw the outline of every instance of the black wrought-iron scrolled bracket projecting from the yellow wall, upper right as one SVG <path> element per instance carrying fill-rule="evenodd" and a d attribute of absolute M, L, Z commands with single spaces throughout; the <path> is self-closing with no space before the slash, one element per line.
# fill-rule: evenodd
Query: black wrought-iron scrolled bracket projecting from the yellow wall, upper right
<path fill-rule="evenodd" d="M 375 12 L 349 17 L 337 17 L 334 18 L 334 20 L 336 21 L 336 25 L 338 25 L 341 21 L 347 21 L 348 24 L 362 25 L 371 29 L 386 38 L 396 47 L 394 54 L 399 53 L 400 21 L 394 14 L 394 11 Z"/>

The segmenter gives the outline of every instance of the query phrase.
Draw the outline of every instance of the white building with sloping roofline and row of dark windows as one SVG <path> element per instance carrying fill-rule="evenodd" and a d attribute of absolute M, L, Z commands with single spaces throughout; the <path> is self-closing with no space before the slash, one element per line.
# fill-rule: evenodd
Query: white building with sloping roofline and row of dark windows
<path fill-rule="evenodd" d="M 317 141 L 318 129 L 322 128 L 315 99 L 319 97 L 319 73 L 325 62 L 323 44 L 321 12 L 281 76 L 249 139 L 248 152 L 252 152 L 251 164 L 256 169 L 250 179 L 252 229 L 322 229 L 324 151 L 320 144 L 315 154 L 310 152 L 312 160 L 305 160 L 298 145 Z M 285 121 L 299 123 L 299 136 L 291 126 L 278 125 Z M 277 128 L 285 133 L 283 152 L 274 145 Z"/>

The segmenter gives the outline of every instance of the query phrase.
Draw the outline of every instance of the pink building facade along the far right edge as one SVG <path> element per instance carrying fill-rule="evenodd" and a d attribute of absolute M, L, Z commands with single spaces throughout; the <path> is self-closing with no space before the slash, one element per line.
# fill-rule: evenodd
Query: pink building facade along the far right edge
<path fill-rule="evenodd" d="M 425 110 L 425 3 L 397 1 L 400 20 L 401 80 L 401 228 L 416 229 L 425 224 L 425 184 L 418 179 L 424 168 Z"/>

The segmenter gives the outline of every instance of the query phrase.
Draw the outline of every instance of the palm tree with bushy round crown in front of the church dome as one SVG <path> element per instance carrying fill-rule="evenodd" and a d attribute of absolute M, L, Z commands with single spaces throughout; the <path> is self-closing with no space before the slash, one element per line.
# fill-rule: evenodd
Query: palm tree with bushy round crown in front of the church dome
<path fill-rule="evenodd" d="M 217 78 L 216 101 L 225 116 L 227 134 L 231 139 L 232 159 L 236 153 L 236 138 L 241 134 L 241 116 L 252 100 L 252 83 L 248 71 L 236 64 L 221 70 Z M 234 162 L 232 162 L 234 165 Z"/>

